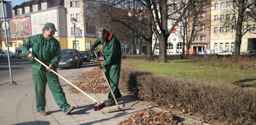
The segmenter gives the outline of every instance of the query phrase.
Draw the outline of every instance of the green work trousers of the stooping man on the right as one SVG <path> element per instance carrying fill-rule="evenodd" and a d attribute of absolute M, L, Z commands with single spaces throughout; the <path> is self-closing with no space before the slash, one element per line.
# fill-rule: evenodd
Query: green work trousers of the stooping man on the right
<path fill-rule="evenodd" d="M 121 69 L 121 61 L 108 66 L 105 72 L 108 82 L 110 83 L 111 90 L 113 91 L 113 94 L 115 95 L 116 98 L 121 97 L 120 90 L 118 89 L 120 69 Z M 108 102 L 115 103 L 115 100 L 111 92 L 108 93 Z"/>

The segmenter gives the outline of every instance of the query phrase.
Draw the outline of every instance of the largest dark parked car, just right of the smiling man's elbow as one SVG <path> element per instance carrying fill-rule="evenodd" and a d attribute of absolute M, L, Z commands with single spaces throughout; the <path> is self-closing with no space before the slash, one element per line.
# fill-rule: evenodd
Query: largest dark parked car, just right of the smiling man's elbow
<path fill-rule="evenodd" d="M 77 67 L 82 66 L 82 56 L 79 51 L 75 49 L 60 50 L 59 67 Z"/>

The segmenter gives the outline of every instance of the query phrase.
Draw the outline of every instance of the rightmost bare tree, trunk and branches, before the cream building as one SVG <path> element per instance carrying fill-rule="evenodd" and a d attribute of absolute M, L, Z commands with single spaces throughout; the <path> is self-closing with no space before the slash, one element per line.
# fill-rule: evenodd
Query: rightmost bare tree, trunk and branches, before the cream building
<path fill-rule="evenodd" d="M 255 33 L 254 27 L 256 26 L 255 15 L 256 1 L 252 0 L 233 0 L 232 9 L 229 9 L 227 14 L 232 15 L 232 19 L 224 22 L 225 27 L 231 27 L 235 30 L 235 53 L 240 54 L 240 46 L 242 37 L 250 32 Z"/>

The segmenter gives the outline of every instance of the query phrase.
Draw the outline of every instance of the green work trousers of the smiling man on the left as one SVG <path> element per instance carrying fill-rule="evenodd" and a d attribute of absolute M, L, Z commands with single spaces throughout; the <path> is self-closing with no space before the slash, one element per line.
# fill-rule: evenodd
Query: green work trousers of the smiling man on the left
<path fill-rule="evenodd" d="M 46 71 L 45 67 L 32 69 L 32 76 L 35 84 L 37 111 L 45 110 L 45 88 L 48 82 L 55 102 L 65 112 L 70 105 L 67 103 L 65 93 L 60 86 L 59 77 L 54 72 Z"/>

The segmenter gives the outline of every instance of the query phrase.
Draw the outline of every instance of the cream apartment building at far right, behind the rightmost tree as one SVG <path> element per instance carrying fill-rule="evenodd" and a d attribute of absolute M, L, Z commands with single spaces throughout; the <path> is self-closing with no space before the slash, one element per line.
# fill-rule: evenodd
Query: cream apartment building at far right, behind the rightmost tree
<path fill-rule="evenodd" d="M 220 51 L 235 51 L 235 20 L 237 19 L 237 6 L 230 0 L 211 2 L 211 49 L 215 53 Z M 250 17 L 245 17 L 245 19 Z M 245 20 L 244 19 L 244 20 Z M 256 24 L 244 22 L 242 30 L 250 29 L 242 37 L 240 52 L 256 50 Z"/>

